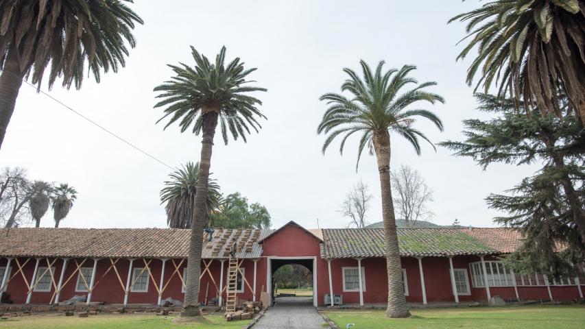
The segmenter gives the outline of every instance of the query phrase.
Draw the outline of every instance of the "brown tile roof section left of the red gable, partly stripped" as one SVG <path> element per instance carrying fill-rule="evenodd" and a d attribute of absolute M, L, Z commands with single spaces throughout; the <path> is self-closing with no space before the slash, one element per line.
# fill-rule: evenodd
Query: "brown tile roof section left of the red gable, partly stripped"
<path fill-rule="evenodd" d="M 190 230 L 174 228 L 11 228 L 0 230 L 0 256 L 187 258 Z M 230 245 L 239 258 L 258 258 L 259 239 L 272 230 L 216 230 L 203 258 L 227 258 Z"/>

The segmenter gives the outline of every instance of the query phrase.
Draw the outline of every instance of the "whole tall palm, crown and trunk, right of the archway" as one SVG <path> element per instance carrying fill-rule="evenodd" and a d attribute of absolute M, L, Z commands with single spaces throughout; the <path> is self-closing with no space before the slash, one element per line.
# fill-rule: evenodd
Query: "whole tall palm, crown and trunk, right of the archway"
<path fill-rule="evenodd" d="M 366 62 L 362 60 L 360 64 L 363 80 L 355 71 L 344 69 L 349 78 L 342 84 L 341 89 L 342 92 L 350 93 L 350 97 L 337 93 L 327 93 L 321 96 L 320 100 L 326 101 L 329 108 L 323 115 L 317 131 L 319 134 L 329 134 L 323 144 L 323 153 L 337 136 L 342 136 L 339 147 L 339 151 L 342 153 L 348 137 L 359 133 L 361 138 L 357 164 L 359 164 L 359 158 L 366 146 L 368 146 L 370 154 L 374 152 L 376 154 L 382 193 L 384 248 L 388 276 L 386 316 L 409 317 L 410 312 L 404 297 L 396 218 L 394 217 L 392 189 L 390 187 L 390 133 L 406 138 L 416 153 L 420 154 L 418 138 L 431 142 L 422 132 L 413 127 L 415 117 L 429 119 L 441 131 L 443 125 L 440 119 L 428 110 L 407 110 L 407 108 L 419 101 L 428 101 L 434 104 L 435 101 L 443 103 L 444 100 L 439 95 L 423 90 L 428 86 L 434 86 L 435 82 L 418 84 L 416 80 L 407 76 L 410 71 L 416 69 L 416 66 L 405 65 L 400 70 L 391 69 L 383 72 L 384 62 L 382 61 L 379 62 L 376 72 L 372 73 Z M 418 84 L 418 86 L 398 95 L 401 88 L 407 84 Z"/>

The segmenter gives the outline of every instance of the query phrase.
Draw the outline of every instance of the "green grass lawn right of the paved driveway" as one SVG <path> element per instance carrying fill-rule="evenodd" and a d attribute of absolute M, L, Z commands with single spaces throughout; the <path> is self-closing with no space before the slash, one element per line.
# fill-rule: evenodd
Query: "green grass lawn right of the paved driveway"
<path fill-rule="evenodd" d="M 325 314 L 339 328 L 585 328 L 585 306 L 506 306 L 411 310 L 409 319 L 386 319 L 383 310 L 339 310 Z"/>

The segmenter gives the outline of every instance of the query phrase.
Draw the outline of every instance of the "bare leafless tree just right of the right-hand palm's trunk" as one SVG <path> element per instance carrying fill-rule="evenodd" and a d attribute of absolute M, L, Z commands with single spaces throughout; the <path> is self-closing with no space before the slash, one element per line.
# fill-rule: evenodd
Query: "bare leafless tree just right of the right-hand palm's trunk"
<path fill-rule="evenodd" d="M 429 203 L 434 201 L 433 189 L 425 183 L 418 170 L 401 165 L 392 171 L 390 180 L 396 213 L 407 226 L 415 226 L 416 221 L 433 217 L 433 212 L 429 210 Z"/>

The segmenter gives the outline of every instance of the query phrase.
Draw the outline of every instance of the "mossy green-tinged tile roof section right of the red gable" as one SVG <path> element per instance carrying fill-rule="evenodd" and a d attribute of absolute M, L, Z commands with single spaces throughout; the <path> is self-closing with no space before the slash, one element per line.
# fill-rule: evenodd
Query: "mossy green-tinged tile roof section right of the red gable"
<path fill-rule="evenodd" d="M 519 235 L 509 229 L 398 228 L 401 256 L 501 254 L 516 247 Z M 490 230 L 498 235 L 490 237 Z M 323 229 L 322 258 L 384 257 L 384 230 Z M 498 241 L 504 237 L 504 241 Z M 516 240 L 514 240 L 516 237 Z"/>

